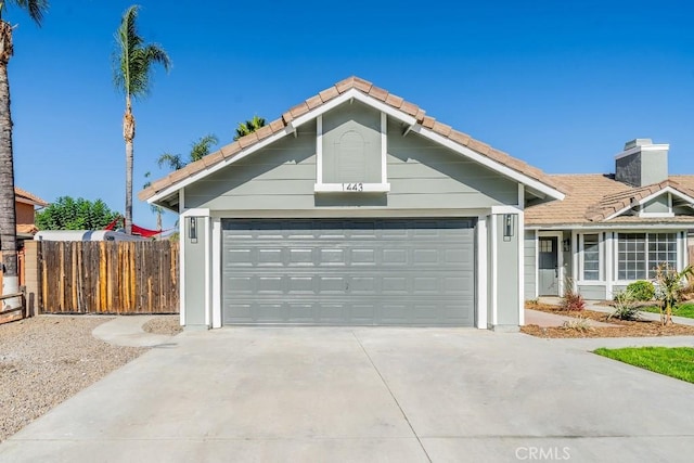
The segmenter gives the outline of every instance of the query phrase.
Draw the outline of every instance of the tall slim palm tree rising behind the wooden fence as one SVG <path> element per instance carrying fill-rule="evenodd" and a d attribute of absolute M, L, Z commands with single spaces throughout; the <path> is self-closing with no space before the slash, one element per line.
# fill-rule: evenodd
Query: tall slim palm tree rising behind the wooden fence
<path fill-rule="evenodd" d="M 114 53 L 114 83 L 126 97 L 126 113 L 123 116 L 123 138 L 126 141 L 126 233 L 132 232 L 132 162 L 134 139 L 134 117 L 131 100 L 140 100 L 150 93 L 154 64 L 160 64 L 166 72 L 171 60 L 156 43 L 144 43 L 138 34 L 139 5 L 126 10 L 116 30 Z"/>

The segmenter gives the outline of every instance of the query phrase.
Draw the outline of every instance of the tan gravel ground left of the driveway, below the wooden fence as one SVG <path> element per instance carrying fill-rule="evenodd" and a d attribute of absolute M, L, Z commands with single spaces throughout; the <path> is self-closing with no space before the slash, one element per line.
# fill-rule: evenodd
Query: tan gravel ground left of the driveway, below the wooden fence
<path fill-rule="evenodd" d="M 91 335 L 112 319 L 39 316 L 0 325 L 0 441 L 146 351 Z"/>

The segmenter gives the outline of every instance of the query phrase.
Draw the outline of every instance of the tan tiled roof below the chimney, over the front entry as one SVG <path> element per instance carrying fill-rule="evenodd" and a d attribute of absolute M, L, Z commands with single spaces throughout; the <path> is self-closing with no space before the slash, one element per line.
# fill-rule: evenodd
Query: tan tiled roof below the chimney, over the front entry
<path fill-rule="evenodd" d="M 671 176 L 668 180 L 633 188 L 615 180 L 614 175 L 554 175 L 552 178 L 569 187 L 564 201 L 540 204 L 525 210 L 527 226 L 562 226 L 599 223 L 633 202 L 639 202 L 667 187 L 694 196 L 694 176 Z M 633 198 L 633 200 L 632 200 Z M 643 218 L 618 216 L 607 223 L 694 223 L 692 217 Z"/>

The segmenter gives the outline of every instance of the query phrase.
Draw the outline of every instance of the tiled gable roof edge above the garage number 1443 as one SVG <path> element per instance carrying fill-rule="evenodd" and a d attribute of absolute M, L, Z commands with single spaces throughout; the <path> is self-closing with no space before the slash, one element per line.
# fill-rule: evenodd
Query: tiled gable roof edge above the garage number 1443
<path fill-rule="evenodd" d="M 211 153 L 202 159 L 191 163 L 180 170 L 169 173 L 163 179 L 152 182 L 152 184 L 142 190 L 138 197 L 142 201 L 146 201 L 154 196 L 158 192 L 177 184 L 178 182 L 194 176 L 211 166 L 221 163 L 224 159 L 232 158 L 243 152 L 243 150 L 265 140 L 274 133 L 283 131 L 292 120 L 299 116 L 307 114 L 308 112 L 330 102 L 331 100 L 339 97 L 340 94 L 356 89 L 365 95 L 369 95 L 382 103 L 385 103 L 396 110 L 403 112 L 404 114 L 412 116 L 416 119 L 416 123 L 423 127 L 433 130 L 434 132 L 446 137 L 447 139 L 466 146 L 488 158 L 496 160 L 497 163 L 504 165 L 513 170 L 516 170 L 531 179 L 540 181 L 551 188 L 563 191 L 564 185 L 555 179 L 551 178 L 540 169 L 529 166 L 528 164 L 516 159 L 506 153 L 491 147 L 490 145 L 477 141 L 471 138 L 468 134 L 453 130 L 450 126 L 441 124 L 430 116 L 426 116 L 424 110 L 420 108 L 416 104 L 404 101 L 402 98 L 389 93 L 387 90 L 381 89 L 370 81 L 361 79 L 359 77 L 349 77 L 335 83 L 318 94 L 307 99 L 306 101 L 290 108 L 282 114 L 282 117 L 271 121 L 265 127 L 258 129 L 256 132 L 247 134 L 237 141 L 221 147 L 219 151 Z"/>

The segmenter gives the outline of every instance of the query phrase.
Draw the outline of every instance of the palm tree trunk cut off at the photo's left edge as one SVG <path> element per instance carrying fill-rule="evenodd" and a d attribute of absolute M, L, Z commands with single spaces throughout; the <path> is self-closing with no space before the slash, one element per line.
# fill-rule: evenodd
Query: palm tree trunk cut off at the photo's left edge
<path fill-rule="evenodd" d="M 48 0 L 0 1 L 0 249 L 2 250 L 2 294 L 20 292 L 17 275 L 16 210 L 14 209 L 14 159 L 12 153 L 12 114 L 10 113 L 10 81 L 8 63 L 13 54 L 13 26 L 4 20 L 8 3 L 27 12 L 41 26 L 48 11 Z M 11 308 L 20 307 L 20 298 L 7 299 Z"/>

